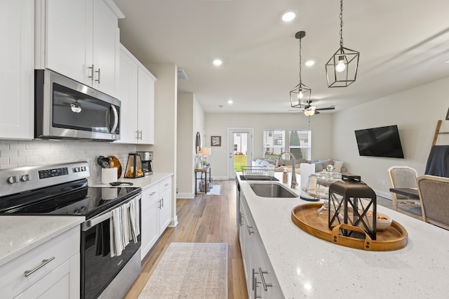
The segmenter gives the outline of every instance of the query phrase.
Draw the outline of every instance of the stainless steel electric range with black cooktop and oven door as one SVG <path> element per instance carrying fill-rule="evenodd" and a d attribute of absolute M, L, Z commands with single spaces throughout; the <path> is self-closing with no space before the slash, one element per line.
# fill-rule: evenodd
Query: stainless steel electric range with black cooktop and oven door
<path fill-rule="evenodd" d="M 81 298 L 123 298 L 140 274 L 140 234 L 111 257 L 114 210 L 140 187 L 89 187 L 86 161 L 0 171 L 0 215 L 81 215 Z M 140 200 L 139 225 L 140 225 Z M 129 204 L 128 204 L 129 205 Z"/>

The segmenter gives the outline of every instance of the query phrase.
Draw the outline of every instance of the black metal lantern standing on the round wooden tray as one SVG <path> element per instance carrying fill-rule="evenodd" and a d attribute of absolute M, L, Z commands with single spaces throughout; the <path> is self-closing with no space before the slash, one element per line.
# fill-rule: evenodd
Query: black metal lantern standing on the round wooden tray
<path fill-rule="evenodd" d="M 344 223 L 361 227 L 371 239 L 376 239 L 376 194 L 361 182 L 359 175 L 342 175 L 342 180 L 333 182 L 329 187 L 329 205 L 330 230 Z M 341 231 L 342 235 L 347 237 L 357 237 L 359 234 L 351 230 Z"/>

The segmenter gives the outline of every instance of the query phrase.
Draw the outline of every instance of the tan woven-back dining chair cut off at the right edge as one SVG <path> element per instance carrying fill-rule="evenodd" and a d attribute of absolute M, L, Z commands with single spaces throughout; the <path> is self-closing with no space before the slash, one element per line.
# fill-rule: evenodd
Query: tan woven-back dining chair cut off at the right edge
<path fill-rule="evenodd" d="M 449 178 L 422 175 L 417 185 L 424 221 L 449 230 Z"/>

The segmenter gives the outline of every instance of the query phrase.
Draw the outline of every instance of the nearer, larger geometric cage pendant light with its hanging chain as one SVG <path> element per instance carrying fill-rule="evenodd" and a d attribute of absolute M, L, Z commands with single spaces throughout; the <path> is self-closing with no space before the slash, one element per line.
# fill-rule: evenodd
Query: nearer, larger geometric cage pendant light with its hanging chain
<path fill-rule="evenodd" d="M 359 55 L 343 46 L 343 0 L 340 0 L 340 48 L 326 63 L 328 87 L 346 87 L 356 81 Z"/>

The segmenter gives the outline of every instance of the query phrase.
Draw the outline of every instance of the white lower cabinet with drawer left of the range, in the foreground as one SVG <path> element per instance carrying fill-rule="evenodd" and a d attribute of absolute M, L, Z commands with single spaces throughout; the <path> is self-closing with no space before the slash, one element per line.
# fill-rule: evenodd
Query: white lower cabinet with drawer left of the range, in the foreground
<path fill-rule="evenodd" d="M 79 226 L 0 267 L 0 298 L 80 296 Z"/>

